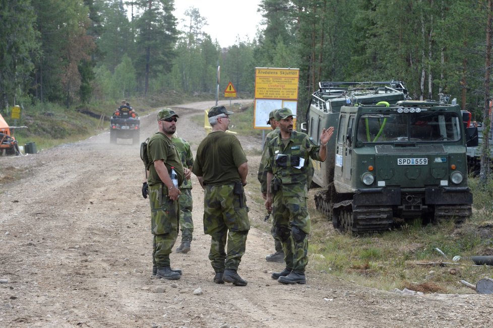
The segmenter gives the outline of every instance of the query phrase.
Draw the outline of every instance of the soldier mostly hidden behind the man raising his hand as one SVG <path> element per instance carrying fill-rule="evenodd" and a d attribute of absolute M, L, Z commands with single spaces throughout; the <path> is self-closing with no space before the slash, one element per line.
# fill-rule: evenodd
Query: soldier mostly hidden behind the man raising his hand
<path fill-rule="evenodd" d="M 260 182 L 260 190 L 262 192 L 262 197 L 264 200 L 267 199 L 267 171 L 265 170 L 265 164 L 267 162 L 267 145 L 276 135 L 279 134 L 279 127 L 277 126 L 277 121 L 274 118 L 274 113 L 277 109 L 269 113 L 269 120 L 267 124 L 270 124 L 272 131 L 265 137 L 264 150 L 262 151 L 262 158 L 260 159 L 259 173 L 257 177 Z M 271 214 L 269 212 L 269 214 Z M 275 253 L 269 254 L 265 257 L 266 261 L 269 262 L 284 262 L 284 251 L 282 250 L 281 241 L 276 236 L 276 227 L 274 226 L 274 220 L 272 220 L 271 235 L 274 238 L 274 246 L 276 249 Z"/>

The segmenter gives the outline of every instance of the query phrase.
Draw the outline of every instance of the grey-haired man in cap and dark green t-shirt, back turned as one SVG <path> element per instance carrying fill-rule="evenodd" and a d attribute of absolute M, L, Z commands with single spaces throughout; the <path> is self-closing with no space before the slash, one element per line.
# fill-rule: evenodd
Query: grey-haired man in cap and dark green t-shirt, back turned
<path fill-rule="evenodd" d="M 248 163 L 238 139 L 226 133 L 232 114 L 224 106 L 210 109 L 212 131 L 200 143 L 192 171 L 205 190 L 204 232 L 211 235 L 209 259 L 215 272 L 213 281 L 246 286 L 247 282 L 236 271 L 250 230 L 243 192 Z"/>

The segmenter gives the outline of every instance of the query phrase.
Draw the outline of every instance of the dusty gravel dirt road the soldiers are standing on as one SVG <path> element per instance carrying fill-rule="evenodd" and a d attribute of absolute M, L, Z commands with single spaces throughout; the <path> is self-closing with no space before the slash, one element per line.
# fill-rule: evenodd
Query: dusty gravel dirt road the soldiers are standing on
<path fill-rule="evenodd" d="M 194 155 L 205 132 L 190 117 L 211 105 L 175 107 L 178 134 Z M 141 124 L 144 140 L 157 130 L 155 113 Z M 261 147 L 260 140 L 238 138 L 245 149 Z M 1 327 L 491 326 L 491 295 L 400 295 L 336 280 L 310 263 L 306 285 L 279 284 L 270 276 L 284 266 L 264 259 L 272 237 L 255 228 L 238 270 L 248 286 L 214 284 L 195 176 L 192 250 L 170 255 L 183 276 L 153 278 L 143 164 L 139 147 L 123 143 L 110 146 L 105 132 L 36 155 L 0 158 L 0 174 L 26 170 L 22 179 L 0 184 Z M 250 181 L 258 163 L 259 156 L 249 156 Z M 250 220 L 263 217 L 262 205 L 247 197 Z M 194 295 L 198 288 L 202 294 Z"/>

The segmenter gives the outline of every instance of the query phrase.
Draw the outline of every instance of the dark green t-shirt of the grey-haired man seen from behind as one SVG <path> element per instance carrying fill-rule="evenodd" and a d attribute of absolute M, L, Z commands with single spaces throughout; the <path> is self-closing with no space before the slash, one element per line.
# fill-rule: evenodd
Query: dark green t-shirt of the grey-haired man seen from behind
<path fill-rule="evenodd" d="M 230 184 L 241 181 L 238 167 L 246 161 L 235 136 L 215 131 L 200 143 L 192 172 L 202 176 L 207 185 Z"/>

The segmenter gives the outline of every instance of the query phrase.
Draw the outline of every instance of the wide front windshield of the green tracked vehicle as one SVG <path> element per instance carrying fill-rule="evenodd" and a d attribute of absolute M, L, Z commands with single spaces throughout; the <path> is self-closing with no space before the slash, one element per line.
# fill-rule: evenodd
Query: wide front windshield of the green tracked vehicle
<path fill-rule="evenodd" d="M 456 113 L 422 111 L 361 115 L 356 139 L 363 143 L 458 141 L 460 119 Z"/>

